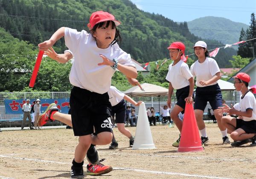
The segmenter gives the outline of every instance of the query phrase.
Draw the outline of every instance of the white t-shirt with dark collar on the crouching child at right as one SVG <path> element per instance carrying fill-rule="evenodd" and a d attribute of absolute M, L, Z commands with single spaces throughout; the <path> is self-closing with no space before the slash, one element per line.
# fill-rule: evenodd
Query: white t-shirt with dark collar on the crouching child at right
<path fill-rule="evenodd" d="M 240 97 L 240 102 L 239 102 L 239 106 L 240 106 L 241 111 L 245 112 L 248 109 L 253 110 L 252 117 L 248 118 L 248 117 L 243 116 L 243 120 L 244 121 L 256 120 L 256 99 L 255 99 L 253 93 L 252 92 L 247 92 L 245 94 L 244 98 L 241 98 L 241 97 Z"/>

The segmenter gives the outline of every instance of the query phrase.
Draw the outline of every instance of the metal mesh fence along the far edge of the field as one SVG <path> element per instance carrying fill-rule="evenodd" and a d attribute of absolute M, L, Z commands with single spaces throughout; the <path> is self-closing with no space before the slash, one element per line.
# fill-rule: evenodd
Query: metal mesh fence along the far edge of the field
<path fill-rule="evenodd" d="M 235 104 L 239 102 L 239 92 L 236 91 L 223 91 L 222 92 L 223 99 L 226 101 L 226 104 L 230 106 L 230 104 Z M 69 98 L 70 92 L 0 92 L 0 120 L 21 120 L 21 115 L 14 114 L 6 114 L 4 99 L 37 99 L 37 98 Z M 159 106 L 166 105 L 167 96 L 153 96 L 153 97 L 134 97 L 134 101 L 144 101 L 146 108 L 154 107 L 156 112 L 159 112 Z M 172 95 L 172 108 L 174 107 L 177 99 L 175 97 L 175 92 Z M 127 105 L 132 106 L 130 103 Z M 208 108 L 211 108 L 209 103 L 207 103 L 207 107 L 205 108 L 204 113 L 208 112 Z M 135 111 L 138 114 L 139 108 L 135 107 Z"/>

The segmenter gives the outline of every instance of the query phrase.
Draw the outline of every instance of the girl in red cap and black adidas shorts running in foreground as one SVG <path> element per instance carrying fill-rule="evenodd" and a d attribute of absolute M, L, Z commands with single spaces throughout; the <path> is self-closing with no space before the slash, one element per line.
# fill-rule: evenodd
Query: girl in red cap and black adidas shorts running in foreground
<path fill-rule="evenodd" d="M 38 44 L 40 50 L 47 51 L 64 37 L 75 58 L 70 71 L 70 83 L 74 86 L 70 93 L 70 107 L 73 131 L 79 136 L 79 144 L 72 162 L 71 178 L 83 178 L 84 157 L 90 164 L 97 165 L 99 154 L 95 145 L 106 145 L 112 140 L 108 90 L 114 72 L 119 69 L 124 75 L 137 78 L 130 55 L 115 44 L 121 40 L 116 29 L 118 25 L 120 22 L 112 14 L 98 11 L 91 15 L 87 25 L 90 34 L 61 27 L 49 40 Z M 56 111 L 56 105 L 51 104 L 44 117 L 50 120 Z M 96 135 L 92 135 L 93 127 Z"/>

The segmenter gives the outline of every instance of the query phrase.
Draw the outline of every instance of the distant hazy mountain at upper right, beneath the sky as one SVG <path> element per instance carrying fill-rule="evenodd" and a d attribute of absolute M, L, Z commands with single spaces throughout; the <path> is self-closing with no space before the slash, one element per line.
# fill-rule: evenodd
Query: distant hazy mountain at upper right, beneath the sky
<path fill-rule="evenodd" d="M 249 26 L 223 17 L 208 16 L 189 21 L 188 27 L 189 31 L 198 37 L 232 44 L 239 41 L 241 29 L 246 30 Z"/>

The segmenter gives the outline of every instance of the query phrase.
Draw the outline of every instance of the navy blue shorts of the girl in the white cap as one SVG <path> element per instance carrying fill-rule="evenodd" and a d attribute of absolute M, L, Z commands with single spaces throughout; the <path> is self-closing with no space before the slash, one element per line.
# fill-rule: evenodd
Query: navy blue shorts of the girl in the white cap
<path fill-rule="evenodd" d="M 196 88 L 194 110 L 204 111 L 207 101 L 209 101 L 212 110 L 222 107 L 221 88 L 218 86 L 218 84 Z"/>

